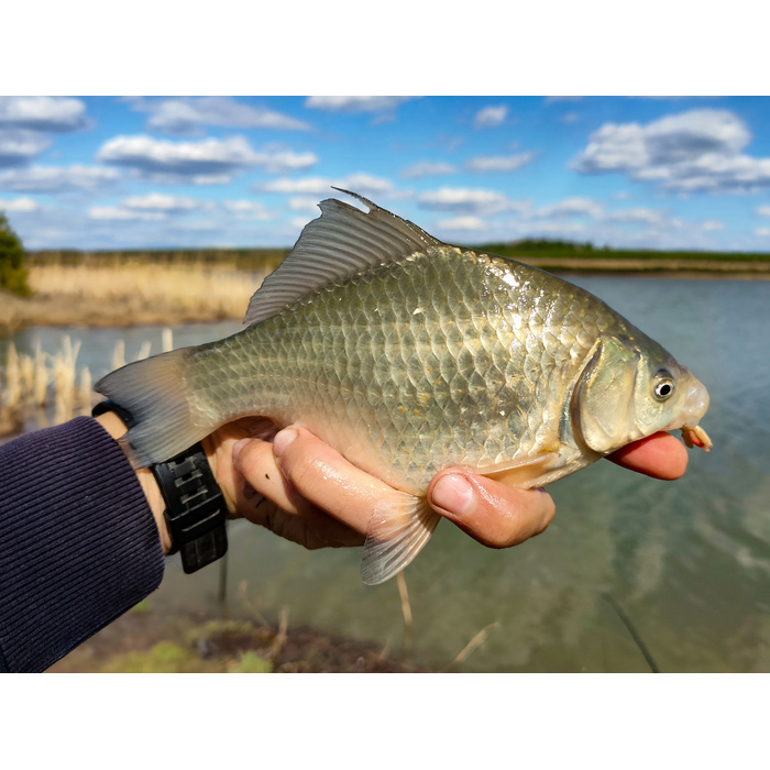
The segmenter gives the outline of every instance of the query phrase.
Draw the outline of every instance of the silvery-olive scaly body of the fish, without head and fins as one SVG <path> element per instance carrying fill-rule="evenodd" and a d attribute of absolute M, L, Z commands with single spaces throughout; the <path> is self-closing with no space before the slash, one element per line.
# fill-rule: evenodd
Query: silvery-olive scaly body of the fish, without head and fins
<path fill-rule="evenodd" d="M 394 486 L 451 464 L 576 449 L 568 387 L 602 331 L 588 293 L 501 257 L 430 248 L 324 287 L 190 353 L 194 420 L 299 422 Z"/>

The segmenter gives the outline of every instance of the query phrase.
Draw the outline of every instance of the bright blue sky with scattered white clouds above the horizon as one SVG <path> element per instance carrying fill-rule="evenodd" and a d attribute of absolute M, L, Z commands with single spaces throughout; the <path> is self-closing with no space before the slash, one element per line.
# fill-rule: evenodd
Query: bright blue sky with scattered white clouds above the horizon
<path fill-rule="evenodd" d="M 0 97 L 32 250 L 288 246 L 331 185 L 450 243 L 770 251 L 770 99 Z"/>

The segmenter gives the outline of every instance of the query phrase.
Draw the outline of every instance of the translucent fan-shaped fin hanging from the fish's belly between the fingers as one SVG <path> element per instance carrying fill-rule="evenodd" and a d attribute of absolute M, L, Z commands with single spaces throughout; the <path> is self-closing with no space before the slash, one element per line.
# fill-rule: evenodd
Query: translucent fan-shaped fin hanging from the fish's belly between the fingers
<path fill-rule="evenodd" d="M 366 532 L 361 578 L 369 585 L 400 572 L 430 540 L 441 518 L 425 497 L 403 494 L 398 507 L 375 512 Z"/>

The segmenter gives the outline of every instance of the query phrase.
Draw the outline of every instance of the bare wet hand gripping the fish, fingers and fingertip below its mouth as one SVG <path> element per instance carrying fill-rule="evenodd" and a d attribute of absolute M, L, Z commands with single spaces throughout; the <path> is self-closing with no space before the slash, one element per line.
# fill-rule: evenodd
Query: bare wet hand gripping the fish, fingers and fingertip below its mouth
<path fill-rule="evenodd" d="M 276 435 L 265 420 L 244 419 L 204 441 L 233 518 L 244 517 L 306 548 L 360 546 L 376 504 L 399 494 L 349 463 L 305 428 Z M 679 479 L 688 453 L 668 433 L 610 454 L 623 468 Z M 542 532 L 556 507 L 542 491 L 526 491 L 450 468 L 428 487 L 431 506 L 491 548 L 507 548 Z"/>

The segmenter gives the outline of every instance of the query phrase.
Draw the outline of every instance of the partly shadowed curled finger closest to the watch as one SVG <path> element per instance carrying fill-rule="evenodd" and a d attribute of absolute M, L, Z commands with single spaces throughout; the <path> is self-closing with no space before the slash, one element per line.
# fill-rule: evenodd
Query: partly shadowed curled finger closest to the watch
<path fill-rule="evenodd" d="M 233 468 L 242 476 L 233 484 L 235 508 L 253 524 L 311 549 L 363 544 L 361 534 L 319 510 L 292 486 L 278 469 L 271 442 L 239 441 Z"/>

